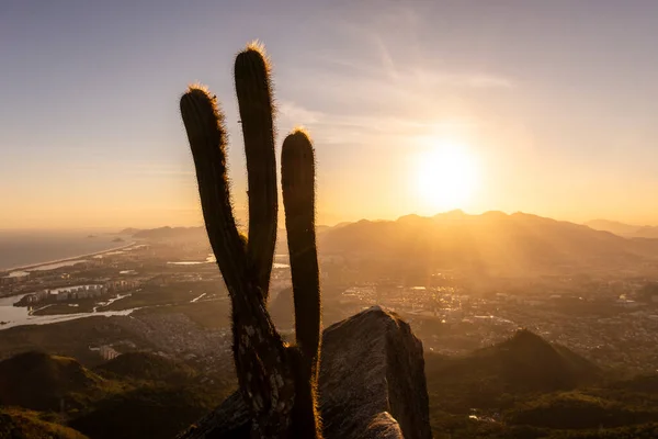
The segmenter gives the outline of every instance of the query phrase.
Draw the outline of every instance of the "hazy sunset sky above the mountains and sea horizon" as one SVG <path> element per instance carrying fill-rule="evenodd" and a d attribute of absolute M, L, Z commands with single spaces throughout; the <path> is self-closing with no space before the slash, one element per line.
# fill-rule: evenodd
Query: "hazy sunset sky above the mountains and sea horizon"
<path fill-rule="evenodd" d="M 201 224 L 178 103 L 196 81 L 226 113 L 245 215 L 232 61 L 254 38 L 277 149 L 311 133 L 319 223 L 658 224 L 657 29 L 654 0 L 2 0 L 0 229 Z M 428 161 L 446 146 L 467 169 Z"/>

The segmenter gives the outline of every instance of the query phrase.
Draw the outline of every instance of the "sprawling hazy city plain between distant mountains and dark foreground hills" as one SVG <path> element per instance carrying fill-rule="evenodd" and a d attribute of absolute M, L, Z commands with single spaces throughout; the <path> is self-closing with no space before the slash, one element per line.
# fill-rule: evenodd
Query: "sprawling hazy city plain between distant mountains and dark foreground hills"
<path fill-rule="evenodd" d="M 7 272 L 1 291 L 25 308 L 21 325 L 32 323 L 29 318 L 107 315 L 125 337 L 110 346 L 118 353 L 150 349 L 204 367 L 229 367 L 230 305 L 208 254 L 203 239 L 185 246 L 177 239 L 144 240 L 49 270 Z M 275 323 L 292 333 L 290 268 L 285 256 L 276 260 L 270 307 Z M 354 277 L 344 255 L 320 254 L 319 261 L 325 326 L 377 304 L 408 320 L 426 349 L 436 353 L 463 354 L 527 328 L 610 368 L 658 369 L 658 353 L 647 349 L 658 341 L 658 277 L 475 281 L 446 269 L 426 275 L 424 283 L 411 277 L 415 283 L 405 284 L 405 279 Z M 2 358 L 9 358 L 15 350 L 1 339 Z"/>

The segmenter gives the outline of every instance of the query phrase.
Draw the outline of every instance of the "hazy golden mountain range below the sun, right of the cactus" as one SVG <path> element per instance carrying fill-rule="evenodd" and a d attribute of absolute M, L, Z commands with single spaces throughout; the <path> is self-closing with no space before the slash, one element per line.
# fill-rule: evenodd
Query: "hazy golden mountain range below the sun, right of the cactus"
<path fill-rule="evenodd" d="M 397 221 L 362 219 L 319 237 L 321 254 L 340 254 L 359 270 L 514 275 L 556 270 L 637 269 L 658 260 L 658 240 L 628 239 L 536 215 L 453 211 Z"/>

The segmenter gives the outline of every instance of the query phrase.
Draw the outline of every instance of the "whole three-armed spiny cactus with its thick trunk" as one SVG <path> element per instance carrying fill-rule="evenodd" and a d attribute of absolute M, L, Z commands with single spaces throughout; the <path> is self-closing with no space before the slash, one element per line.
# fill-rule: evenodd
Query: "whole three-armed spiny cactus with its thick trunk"
<path fill-rule="evenodd" d="M 181 114 L 192 150 L 211 246 L 230 295 L 234 360 L 254 438 L 321 438 L 317 413 L 320 289 L 315 239 L 315 164 L 302 131 L 282 151 L 282 185 L 297 346 L 287 346 L 266 309 L 276 241 L 277 189 L 270 67 L 259 46 L 236 57 L 249 188 L 248 238 L 232 215 L 226 128 L 217 101 L 192 86 Z"/>

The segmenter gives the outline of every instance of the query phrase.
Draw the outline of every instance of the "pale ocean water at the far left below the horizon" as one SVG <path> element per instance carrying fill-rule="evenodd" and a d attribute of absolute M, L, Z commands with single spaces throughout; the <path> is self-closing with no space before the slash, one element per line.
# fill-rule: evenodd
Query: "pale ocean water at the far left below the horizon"
<path fill-rule="evenodd" d="M 124 241 L 113 241 L 120 236 L 87 230 L 0 230 L 0 270 L 75 258 L 129 244 L 126 236 L 122 236 Z"/>

